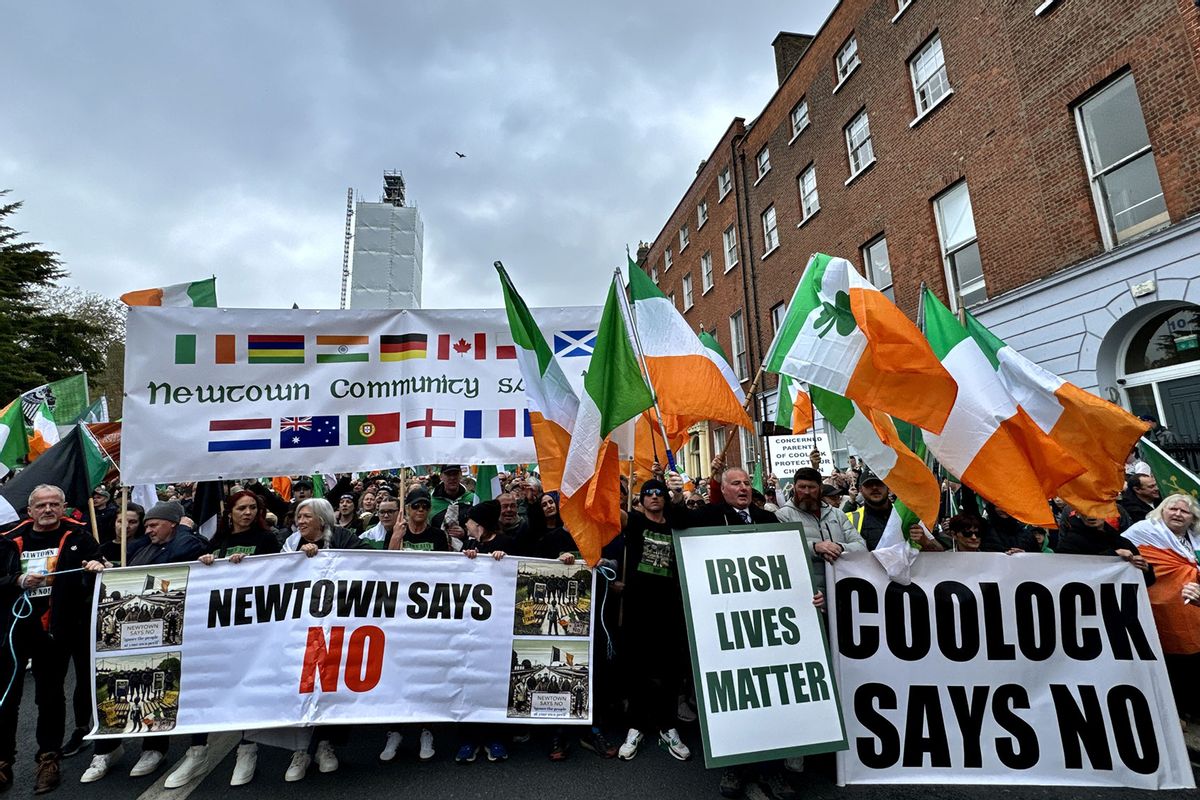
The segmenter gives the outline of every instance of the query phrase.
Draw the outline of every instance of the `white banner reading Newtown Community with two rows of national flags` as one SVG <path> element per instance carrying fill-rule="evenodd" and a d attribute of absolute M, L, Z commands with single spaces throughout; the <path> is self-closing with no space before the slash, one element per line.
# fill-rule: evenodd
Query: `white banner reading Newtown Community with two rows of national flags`
<path fill-rule="evenodd" d="M 535 308 L 576 391 L 600 308 Z M 130 308 L 127 483 L 536 461 L 503 308 Z"/>

